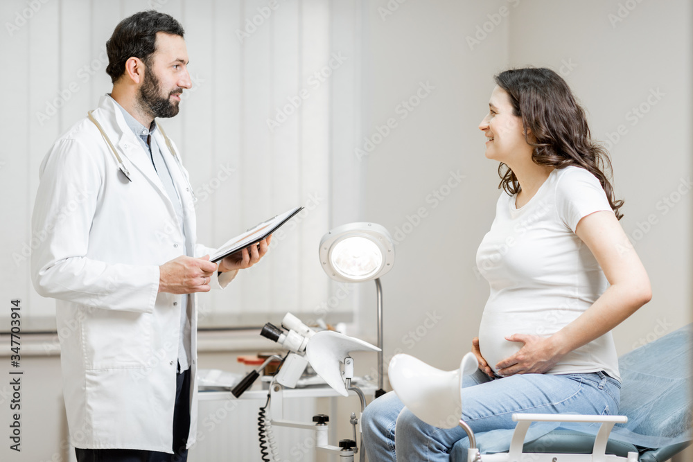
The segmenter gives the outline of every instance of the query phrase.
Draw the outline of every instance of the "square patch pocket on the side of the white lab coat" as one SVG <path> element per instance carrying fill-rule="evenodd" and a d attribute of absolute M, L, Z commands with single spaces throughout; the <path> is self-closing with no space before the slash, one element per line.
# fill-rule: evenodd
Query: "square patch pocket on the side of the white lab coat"
<path fill-rule="evenodd" d="M 152 314 L 93 310 L 82 321 L 87 370 L 146 367 L 152 357 Z"/>

